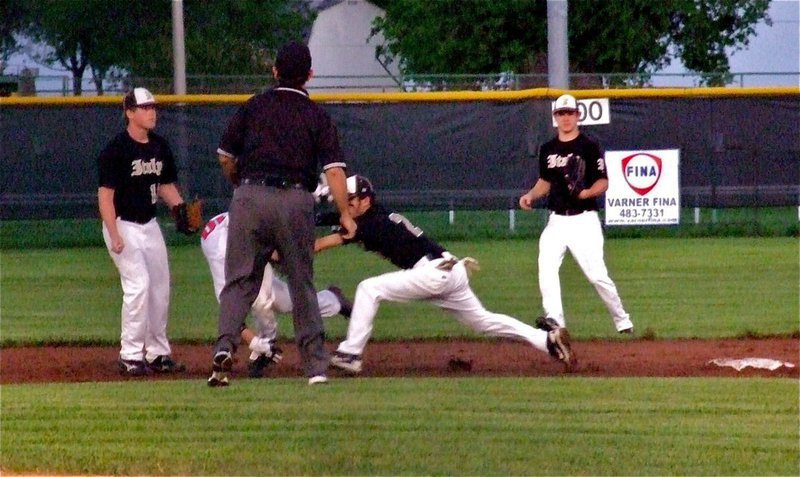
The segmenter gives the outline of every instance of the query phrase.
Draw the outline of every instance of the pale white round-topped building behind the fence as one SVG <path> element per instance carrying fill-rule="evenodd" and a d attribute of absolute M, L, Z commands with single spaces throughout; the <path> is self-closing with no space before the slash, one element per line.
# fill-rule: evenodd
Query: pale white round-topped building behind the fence
<path fill-rule="evenodd" d="M 332 2 L 323 2 L 323 4 Z M 341 0 L 321 6 L 311 29 L 308 48 L 313 58 L 312 92 L 399 91 L 397 62 L 388 72 L 375 59 L 383 35 L 369 38 L 372 21 L 384 11 L 366 0 Z"/>

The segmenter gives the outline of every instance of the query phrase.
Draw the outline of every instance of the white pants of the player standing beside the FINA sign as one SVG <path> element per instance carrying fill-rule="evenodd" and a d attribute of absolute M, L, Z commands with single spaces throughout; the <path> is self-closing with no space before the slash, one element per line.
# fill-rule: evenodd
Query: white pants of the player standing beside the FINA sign
<path fill-rule="evenodd" d="M 539 290 L 545 314 L 565 326 L 558 271 L 569 249 L 605 303 L 617 331 L 633 327 L 630 315 L 622 307 L 617 286 L 611 280 L 603 259 L 603 230 L 597 212 L 573 216 L 550 214 L 539 238 Z"/>

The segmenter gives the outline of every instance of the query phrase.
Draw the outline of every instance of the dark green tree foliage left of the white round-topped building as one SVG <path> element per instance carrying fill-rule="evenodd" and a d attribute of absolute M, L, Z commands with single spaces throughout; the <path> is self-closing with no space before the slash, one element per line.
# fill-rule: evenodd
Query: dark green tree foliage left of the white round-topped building
<path fill-rule="evenodd" d="M 29 5 L 21 26 L 9 30 L 43 46 L 38 61 L 71 72 L 75 95 L 82 92 L 87 69 L 98 94 L 111 72 L 172 77 L 169 1 L 37 0 Z M 307 34 L 313 19 L 302 0 L 186 0 L 187 74 L 268 73 L 274 50 Z"/>

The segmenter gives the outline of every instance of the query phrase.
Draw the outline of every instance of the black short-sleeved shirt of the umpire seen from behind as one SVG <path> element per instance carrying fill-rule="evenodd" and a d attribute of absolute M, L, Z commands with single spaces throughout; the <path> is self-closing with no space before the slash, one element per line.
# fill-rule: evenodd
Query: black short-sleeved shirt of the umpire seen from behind
<path fill-rule="evenodd" d="M 235 157 L 241 180 L 317 185 L 318 167 L 345 167 L 336 126 L 303 89 L 277 87 L 250 98 L 222 135 L 219 154 Z"/>

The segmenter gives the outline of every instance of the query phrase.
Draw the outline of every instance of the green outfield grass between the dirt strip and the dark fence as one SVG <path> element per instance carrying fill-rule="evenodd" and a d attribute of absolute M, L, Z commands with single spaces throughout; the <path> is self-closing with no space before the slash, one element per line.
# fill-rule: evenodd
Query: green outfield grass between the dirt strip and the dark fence
<path fill-rule="evenodd" d="M 480 260 L 472 287 L 494 311 L 532 322 L 540 314 L 534 240 L 446 243 Z M 199 246 L 169 249 L 174 342 L 215 338 L 217 303 Z M 732 337 L 798 332 L 798 244 L 792 238 L 613 239 L 606 262 L 639 329 L 655 338 Z M 319 288 L 339 284 L 352 296 L 358 282 L 393 270 L 357 246 L 316 259 Z M 0 343 L 104 343 L 119 339 L 119 275 L 103 248 L 9 250 L 0 255 Z M 577 339 L 615 336 L 608 312 L 571 257 L 561 270 L 567 323 Z M 281 334 L 292 335 L 281 319 Z M 346 322 L 327 321 L 332 339 Z M 374 339 L 474 336 L 426 303 L 381 306 Z"/>

